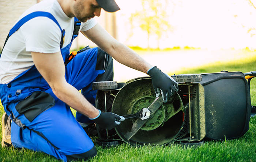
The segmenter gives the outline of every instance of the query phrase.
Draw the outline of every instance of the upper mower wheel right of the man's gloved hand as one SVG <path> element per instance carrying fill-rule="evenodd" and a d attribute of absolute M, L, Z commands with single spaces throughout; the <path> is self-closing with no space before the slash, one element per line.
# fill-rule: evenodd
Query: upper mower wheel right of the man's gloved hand
<path fill-rule="evenodd" d="M 191 83 L 191 82 L 201 82 L 202 75 L 201 74 L 180 74 L 176 75 L 176 82 L 184 82 L 184 83 Z"/>

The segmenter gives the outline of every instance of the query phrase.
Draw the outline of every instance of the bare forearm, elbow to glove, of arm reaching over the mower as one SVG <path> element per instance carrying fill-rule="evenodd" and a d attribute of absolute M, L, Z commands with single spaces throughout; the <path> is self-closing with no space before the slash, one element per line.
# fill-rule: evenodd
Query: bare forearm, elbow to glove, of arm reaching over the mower
<path fill-rule="evenodd" d="M 144 73 L 147 73 L 147 71 L 153 67 L 136 54 L 136 52 L 119 42 L 114 44 L 107 52 L 121 64 Z"/>

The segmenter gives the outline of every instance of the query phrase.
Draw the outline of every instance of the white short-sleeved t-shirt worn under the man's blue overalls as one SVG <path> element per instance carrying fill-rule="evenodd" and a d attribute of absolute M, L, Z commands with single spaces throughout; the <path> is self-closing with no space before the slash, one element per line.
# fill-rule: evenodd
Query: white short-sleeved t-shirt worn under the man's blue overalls
<path fill-rule="evenodd" d="M 71 42 L 74 17 L 70 18 L 65 15 L 57 0 L 41 1 L 25 11 L 19 20 L 35 11 L 51 13 L 60 24 L 61 29 L 65 29 L 63 47 Z M 85 23 L 81 23 L 80 31 L 87 31 L 96 24 L 95 19 L 87 20 Z M 35 17 L 27 21 L 9 37 L 4 46 L 0 59 L 0 84 L 9 83 L 20 73 L 34 65 L 31 51 L 46 54 L 59 52 L 60 41 L 60 28 L 48 17 Z"/>

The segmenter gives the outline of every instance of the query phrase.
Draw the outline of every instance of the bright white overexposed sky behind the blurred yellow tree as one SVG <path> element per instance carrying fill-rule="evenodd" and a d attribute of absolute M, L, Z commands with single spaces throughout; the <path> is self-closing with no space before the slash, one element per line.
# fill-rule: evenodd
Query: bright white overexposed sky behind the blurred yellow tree
<path fill-rule="evenodd" d="M 159 0 L 164 5 L 172 30 L 160 40 L 160 48 L 200 47 L 203 49 L 256 50 L 256 8 L 249 0 Z M 147 47 L 147 33 L 129 22 L 131 13 L 140 11 L 139 0 L 116 0 L 118 40 L 129 46 Z M 166 3 L 167 2 L 167 3 Z M 256 0 L 251 0 L 256 5 Z M 150 14 L 150 13 L 147 13 Z M 132 36 L 131 36 L 132 33 Z M 150 37 L 157 47 L 157 37 Z"/>

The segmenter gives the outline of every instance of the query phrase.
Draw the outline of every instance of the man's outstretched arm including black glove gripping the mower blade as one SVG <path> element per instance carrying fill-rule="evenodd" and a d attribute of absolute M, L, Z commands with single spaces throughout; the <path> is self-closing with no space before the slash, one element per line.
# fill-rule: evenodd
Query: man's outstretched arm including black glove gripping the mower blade
<path fill-rule="evenodd" d="M 174 79 L 163 73 L 156 66 L 153 67 L 147 63 L 124 44 L 118 42 L 99 24 L 82 33 L 118 62 L 150 75 L 156 96 L 158 97 L 162 93 L 163 102 L 167 102 L 167 99 L 174 94 L 174 91 L 178 91 L 178 84 Z"/>

